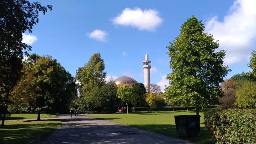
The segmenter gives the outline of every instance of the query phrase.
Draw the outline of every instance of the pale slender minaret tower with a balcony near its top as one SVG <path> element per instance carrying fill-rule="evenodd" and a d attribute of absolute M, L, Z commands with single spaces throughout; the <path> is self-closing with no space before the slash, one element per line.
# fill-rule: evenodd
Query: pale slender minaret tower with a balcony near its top
<path fill-rule="evenodd" d="M 151 61 L 148 60 L 148 53 L 145 55 L 145 61 L 143 61 L 143 69 L 144 69 L 144 85 L 147 89 L 147 93 L 150 93 L 150 69 L 151 69 Z"/>

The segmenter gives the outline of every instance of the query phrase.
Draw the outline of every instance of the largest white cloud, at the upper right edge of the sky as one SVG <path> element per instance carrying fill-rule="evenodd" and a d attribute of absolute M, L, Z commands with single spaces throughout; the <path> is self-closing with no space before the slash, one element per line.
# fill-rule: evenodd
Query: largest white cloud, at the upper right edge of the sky
<path fill-rule="evenodd" d="M 220 40 L 226 65 L 248 61 L 256 42 L 256 0 L 236 0 L 223 22 L 217 16 L 206 22 L 205 31 Z"/>

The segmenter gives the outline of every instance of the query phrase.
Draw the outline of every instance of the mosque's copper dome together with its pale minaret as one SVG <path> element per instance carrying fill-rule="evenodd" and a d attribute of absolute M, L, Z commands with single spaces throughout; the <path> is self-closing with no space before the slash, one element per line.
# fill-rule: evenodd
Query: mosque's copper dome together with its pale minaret
<path fill-rule="evenodd" d="M 148 53 L 145 55 L 145 61 L 143 61 L 143 69 L 144 69 L 144 85 L 147 89 L 147 93 L 150 93 L 150 68 L 151 61 L 148 60 Z M 118 77 L 114 80 L 117 86 L 120 85 L 128 85 L 132 87 L 134 83 L 138 83 L 135 79 L 131 77 L 127 77 L 125 74 L 122 77 Z"/>

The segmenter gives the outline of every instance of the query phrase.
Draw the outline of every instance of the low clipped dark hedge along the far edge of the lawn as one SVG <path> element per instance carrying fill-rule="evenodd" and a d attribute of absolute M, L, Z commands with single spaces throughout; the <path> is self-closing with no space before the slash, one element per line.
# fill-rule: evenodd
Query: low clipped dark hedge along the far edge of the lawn
<path fill-rule="evenodd" d="M 216 105 L 209 105 L 209 106 L 204 106 L 203 108 L 216 108 Z M 194 110 L 196 109 L 195 107 L 188 107 L 188 110 Z M 156 110 L 153 108 L 153 110 Z M 187 110 L 187 107 L 162 107 L 159 109 L 160 111 L 172 111 L 172 110 Z M 132 107 L 133 112 L 137 111 L 148 111 L 148 107 Z"/>

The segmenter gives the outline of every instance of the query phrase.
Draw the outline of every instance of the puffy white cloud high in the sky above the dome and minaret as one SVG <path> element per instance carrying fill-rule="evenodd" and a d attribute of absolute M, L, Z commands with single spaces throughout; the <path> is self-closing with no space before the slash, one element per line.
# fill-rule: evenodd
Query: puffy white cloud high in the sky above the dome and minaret
<path fill-rule="evenodd" d="M 140 8 L 125 8 L 121 14 L 112 19 L 112 22 L 121 26 L 132 26 L 139 30 L 154 31 L 163 19 L 156 10 L 141 10 Z"/>

